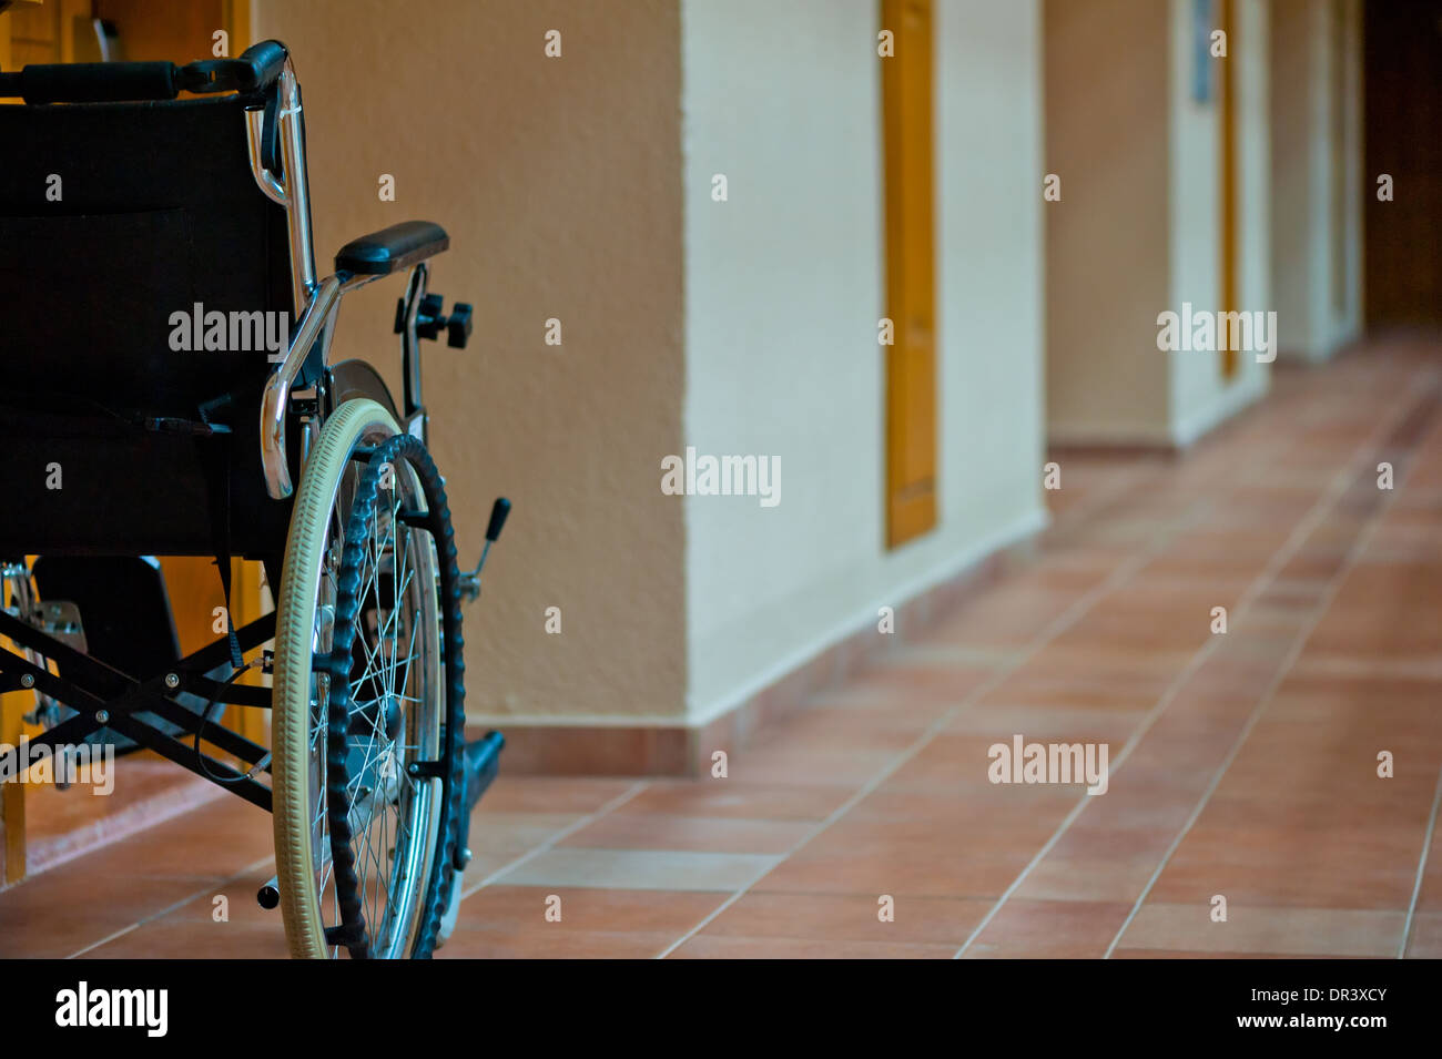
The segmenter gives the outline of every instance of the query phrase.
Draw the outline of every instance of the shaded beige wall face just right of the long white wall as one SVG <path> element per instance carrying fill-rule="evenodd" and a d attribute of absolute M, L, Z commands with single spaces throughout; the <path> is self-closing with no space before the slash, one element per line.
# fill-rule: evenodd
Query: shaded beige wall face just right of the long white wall
<path fill-rule="evenodd" d="M 1168 7 L 1045 1 L 1047 429 L 1063 444 L 1167 445 L 1171 366 Z M 1040 197 L 1040 189 L 1038 189 Z"/>

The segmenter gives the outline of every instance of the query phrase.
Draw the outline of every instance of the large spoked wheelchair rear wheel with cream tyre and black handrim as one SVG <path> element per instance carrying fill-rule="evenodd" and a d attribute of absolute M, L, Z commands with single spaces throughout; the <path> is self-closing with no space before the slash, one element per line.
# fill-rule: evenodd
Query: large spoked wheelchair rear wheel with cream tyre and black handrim
<path fill-rule="evenodd" d="M 356 399 L 306 461 L 275 627 L 275 863 L 291 955 L 425 958 L 461 818 L 460 589 L 446 494 Z"/>

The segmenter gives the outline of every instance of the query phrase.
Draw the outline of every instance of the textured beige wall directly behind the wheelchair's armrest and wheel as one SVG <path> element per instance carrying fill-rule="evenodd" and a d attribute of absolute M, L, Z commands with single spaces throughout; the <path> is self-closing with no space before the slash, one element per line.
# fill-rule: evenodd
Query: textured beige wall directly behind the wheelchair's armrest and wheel
<path fill-rule="evenodd" d="M 433 448 L 463 562 L 490 501 L 515 513 L 469 608 L 476 719 L 679 718 L 681 39 L 676 3 L 254 0 L 304 91 L 319 265 L 424 218 L 433 287 L 476 307 L 466 352 L 427 344 Z M 412 10 L 414 9 L 414 10 Z M 562 32 L 547 59 L 544 33 Z M 397 202 L 378 177 L 395 176 Z M 349 295 L 336 356 L 397 376 L 401 280 Z M 564 344 L 544 343 L 562 321 Z M 562 634 L 544 611 L 559 607 Z"/>

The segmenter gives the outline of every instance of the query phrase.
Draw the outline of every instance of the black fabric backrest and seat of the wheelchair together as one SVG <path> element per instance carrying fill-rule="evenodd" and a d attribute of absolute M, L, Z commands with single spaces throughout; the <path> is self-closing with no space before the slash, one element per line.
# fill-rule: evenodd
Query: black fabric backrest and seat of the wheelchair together
<path fill-rule="evenodd" d="M 293 311 L 242 101 L 0 105 L 0 555 L 283 546 L 290 504 L 260 468 L 268 352 L 172 349 L 198 304 Z"/>

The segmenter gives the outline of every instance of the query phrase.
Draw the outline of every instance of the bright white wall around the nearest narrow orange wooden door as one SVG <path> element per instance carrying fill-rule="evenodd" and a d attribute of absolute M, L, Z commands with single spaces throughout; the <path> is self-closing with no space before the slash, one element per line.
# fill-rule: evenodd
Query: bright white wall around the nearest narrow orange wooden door
<path fill-rule="evenodd" d="M 685 501 L 694 723 L 1044 522 L 1038 4 L 936 17 L 940 517 L 887 552 L 878 4 L 682 0 L 685 444 L 782 467 Z"/>

